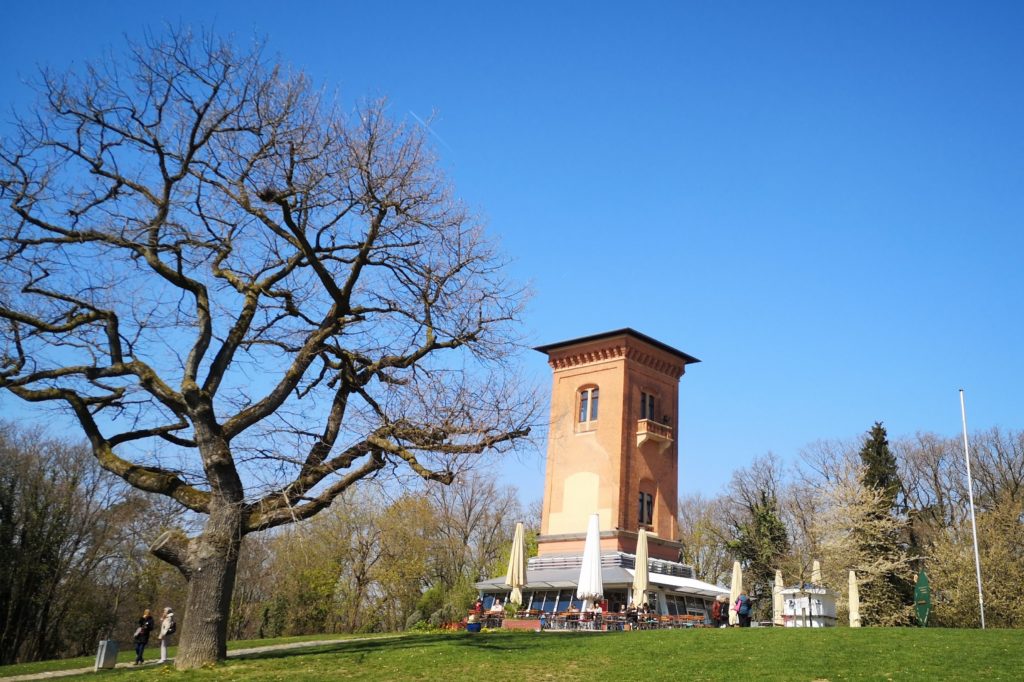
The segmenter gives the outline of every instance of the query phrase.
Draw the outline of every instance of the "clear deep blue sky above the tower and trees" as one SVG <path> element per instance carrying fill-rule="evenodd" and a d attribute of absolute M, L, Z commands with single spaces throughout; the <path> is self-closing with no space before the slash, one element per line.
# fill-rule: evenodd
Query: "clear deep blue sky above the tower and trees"
<path fill-rule="evenodd" d="M 532 341 L 633 327 L 703 360 L 684 493 L 876 420 L 954 435 L 959 387 L 973 429 L 1024 426 L 1024 3 L 492 4 L 11 2 L 0 98 L 170 22 L 436 111 Z M 539 497 L 543 452 L 506 469 Z"/>

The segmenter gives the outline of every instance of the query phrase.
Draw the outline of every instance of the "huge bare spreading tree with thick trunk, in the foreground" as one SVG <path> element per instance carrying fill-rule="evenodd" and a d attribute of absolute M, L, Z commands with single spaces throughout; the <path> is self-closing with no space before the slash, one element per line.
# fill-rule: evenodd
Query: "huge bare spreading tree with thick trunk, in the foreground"
<path fill-rule="evenodd" d="M 0 388 L 206 516 L 152 548 L 189 581 L 195 668 L 225 655 L 247 534 L 527 433 L 522 296 L 420 128 L 258 47 L 172 32 L 39 89 L 0 147 Z"/>

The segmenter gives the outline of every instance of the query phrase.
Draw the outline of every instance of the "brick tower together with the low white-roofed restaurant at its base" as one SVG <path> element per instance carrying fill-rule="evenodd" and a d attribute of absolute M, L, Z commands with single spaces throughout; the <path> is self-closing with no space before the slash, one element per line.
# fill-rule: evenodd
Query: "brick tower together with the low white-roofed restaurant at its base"
<path fill-rule="evenodd" d="M 639 530 L 647 531 L 649 603 L 667 615 L 705 615 L 728 590 L 679 562 L 679 380 L 697 358 L 632 329 L 537 348 L 552 369 L 547 470 L 538 556 L 523 608 L 566 610 L 575 597 L 588 519 L 600 517 L 608 608 L 629 602 Z M 505 579 L 476 588 L 489 606 Z"/>

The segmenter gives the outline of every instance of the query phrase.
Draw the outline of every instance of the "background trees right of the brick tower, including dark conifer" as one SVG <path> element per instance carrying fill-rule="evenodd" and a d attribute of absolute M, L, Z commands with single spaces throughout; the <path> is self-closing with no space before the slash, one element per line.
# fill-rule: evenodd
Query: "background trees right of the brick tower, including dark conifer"
<path fill-rule="evenodd" d="M 1024 432 L 990 429 L 970 438 L 978 545 L 988 627 L 1024 626 Z M 915 623 L 918 571 L 932 588 L 929 626 L 978 627 L 964 443 L 919 433 L 891 444 L 876 424 L 862 438 L 820 441 L 783 467 L 769 454 L 733 473 L 721 495 L 680 501 L 683 559 L 710 582 L 728 581 L 734 558 L 748 571 L 762 616 L 770 616 L 775 570 L 785 585 L 810 580 L 811 562 L 842 594 L 848 571 L 861 583 L 864 625 Z"/>

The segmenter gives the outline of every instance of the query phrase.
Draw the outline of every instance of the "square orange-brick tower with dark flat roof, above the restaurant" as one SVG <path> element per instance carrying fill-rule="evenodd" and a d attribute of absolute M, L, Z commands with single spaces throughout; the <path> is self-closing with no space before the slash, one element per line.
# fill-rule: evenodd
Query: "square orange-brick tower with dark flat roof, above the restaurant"
<path fill-rule="evenodd" d="M 583 551 L 601 519 L 602 551 L 675 561 L 679 379 L 695 357 L 623 329 L 539 346 L 553 371 L 548 463 L 538 552 Z"/>

